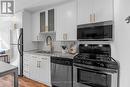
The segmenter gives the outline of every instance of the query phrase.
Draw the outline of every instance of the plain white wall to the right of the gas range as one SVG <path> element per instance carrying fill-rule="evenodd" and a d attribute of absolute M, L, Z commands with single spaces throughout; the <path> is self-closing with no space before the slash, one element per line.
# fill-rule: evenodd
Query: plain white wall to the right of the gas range
<path fill-rule="evenodd" d="M 125 18 L 130 16 L 130 0 L 114 1 L 115 42 L 117 60 L 120 62 L 120 87 L 130 87 L 130 24 Z"/>

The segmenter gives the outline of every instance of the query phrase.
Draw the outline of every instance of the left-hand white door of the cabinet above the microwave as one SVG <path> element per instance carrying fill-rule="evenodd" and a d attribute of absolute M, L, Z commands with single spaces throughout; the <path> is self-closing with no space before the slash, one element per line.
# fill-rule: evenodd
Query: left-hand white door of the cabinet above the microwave
<path fill-rule="evenodd" d="M 77 4 L 78 25 L 91 23 L 93 13 L 93 0 L 77 0 Z"/>

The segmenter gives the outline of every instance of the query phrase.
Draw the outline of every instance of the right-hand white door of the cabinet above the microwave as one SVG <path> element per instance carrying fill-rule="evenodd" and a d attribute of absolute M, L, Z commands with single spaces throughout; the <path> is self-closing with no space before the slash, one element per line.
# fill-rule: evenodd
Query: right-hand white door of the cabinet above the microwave
<path fill-rule="evenodd" d="M 93 0 L 95 22 L 113 20 L 113 0 Z"/>

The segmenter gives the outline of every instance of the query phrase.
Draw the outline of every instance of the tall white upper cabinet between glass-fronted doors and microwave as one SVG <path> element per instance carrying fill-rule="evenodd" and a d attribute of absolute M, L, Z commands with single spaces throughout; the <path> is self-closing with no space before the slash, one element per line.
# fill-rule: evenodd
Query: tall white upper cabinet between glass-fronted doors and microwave
<path fill-rule="evenodd" d="M 76 40 L 76 2 L 71 1 L 56 8 L 56 40 Z"/>

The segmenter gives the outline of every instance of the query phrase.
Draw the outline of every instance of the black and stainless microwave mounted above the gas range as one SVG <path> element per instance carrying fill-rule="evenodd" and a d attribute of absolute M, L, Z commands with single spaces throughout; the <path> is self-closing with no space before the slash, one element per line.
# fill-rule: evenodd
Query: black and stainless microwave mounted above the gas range
<path fill-rule="evenodd" d="M 78 25 L 77 39 L 85 41 L 112 41 L 113 21 Z"/>

